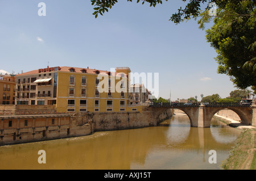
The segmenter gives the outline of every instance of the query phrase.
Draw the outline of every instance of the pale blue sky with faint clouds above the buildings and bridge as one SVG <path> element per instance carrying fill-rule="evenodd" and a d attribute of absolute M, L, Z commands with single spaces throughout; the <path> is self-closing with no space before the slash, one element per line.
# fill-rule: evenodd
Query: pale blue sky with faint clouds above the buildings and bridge
<path fill-rule="evenodd" d="M 38 14 L 40 2 L 45 16 Z M 217 74 L 217 53 L 197 22 L 169 21 L 183 1 L 156 7 L 136 2 L 119 0 L 95 18 L 89 0 L 1 0 L 0 71 L 127 66 L 133 73 L 158 73 L 158 96 L 171 100 L 201 100 L 201 94 L 226 98 L 236 90 L 227 75 Z"/>

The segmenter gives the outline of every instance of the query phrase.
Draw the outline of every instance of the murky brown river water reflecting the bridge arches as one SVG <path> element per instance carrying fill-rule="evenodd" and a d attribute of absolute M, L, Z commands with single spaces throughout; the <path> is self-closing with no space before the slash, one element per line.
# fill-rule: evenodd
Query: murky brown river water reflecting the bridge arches
<path fill-rule="evenodd" d="M 193 128 L 188 116 L 178 112 L 158 127 L 1 146 L 0 169 L 218 170 L 240 131 L 214 118 L 211 123 L 210 128 Z M 46 151 L 46 163 L 39 164 L 39 150 Z M 216 151 L 217 163 L 209 163 L 210 150 Z"/>

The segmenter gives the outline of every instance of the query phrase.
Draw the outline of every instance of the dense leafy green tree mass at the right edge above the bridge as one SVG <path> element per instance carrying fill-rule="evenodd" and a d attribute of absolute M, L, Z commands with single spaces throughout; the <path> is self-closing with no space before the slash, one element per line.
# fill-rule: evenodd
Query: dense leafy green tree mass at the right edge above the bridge
<path fill-rule="evenodd" d="M 241 89 L 249 86 L 253 86 L 252 89 L 254 89 L 256 85 L 256 49 L 254 49 L 256 1 L 225 2 L 225 6 L 220 5 L 218 8 L 214 25 L 206 31 L 207 41 L 218 53 L 215 58 L 218 63 L 217 72 L 229 75 L 234 85 Z"/>

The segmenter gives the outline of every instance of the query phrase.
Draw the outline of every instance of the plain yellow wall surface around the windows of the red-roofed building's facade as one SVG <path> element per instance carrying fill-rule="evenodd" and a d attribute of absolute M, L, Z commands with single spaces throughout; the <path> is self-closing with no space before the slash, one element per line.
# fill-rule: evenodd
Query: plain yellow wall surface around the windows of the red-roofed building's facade
<path fill-rule="evenodd" d="M 69 78 L 74 77 L 74 83 L 69 82 Z M 86 85 L 82 85 L 81 79 L 86 77 Z M 104 78 L 100 80 L 105 81 L 108 85 L 108 79 L 112 80 L 112 96 L 108 95 L 109 88 L 107 87 L 106 91 L 100 92 L 100 96 L 95 95 L 96 90 L 96 78 L 97 74 L 87 74 L 87 73 L 76 73 L 76 72 L 58 72 L 57 78 L 57 102 L 56 102 L 56 111 L 57 112 L 81 112 L 86 110 L 87 112 L 119 112 L 127 111 L 127 104 L 129 98 L 127 97 L 127 79 L 126 78 L 115 78 L 114 76 L 104 75 Z M 125 85 L 123 88 L 124 96 L 121 96 L 121 93 L 118 92 L 115 88 L 120 86 L 122 81 Z M 102 83 L 102 82 L 101 82 Z M 105 84 L 105 85 L 106 85 Z M 100 84 L 101 85 L 101 84 Z M 74 94 L 69 95 L 69 89 L 74 89 Z M 104 87 L 103 87 L 104 88 Z M 81 95 L 81 89 L 86 89 L 86 96 Z M 68 100 L 74 100 L 75 105 L 68 105 Z M 86 100 L 86 106 L 80 105 L 80 100 Z M 95 106 L 95 100 L 99 101 L 99 106 Z M 112 106 L 107 106 L 107 101 L 112 100 Z M 124 104 L 121 106 L 120 101 L 124 101 Z M 123 102 L 122 102 L 123 103 Z M 111 110 L 112 111 L 109 111 Z M 130 109 L 131 110 L 131 109 Z"/>

